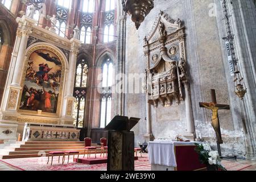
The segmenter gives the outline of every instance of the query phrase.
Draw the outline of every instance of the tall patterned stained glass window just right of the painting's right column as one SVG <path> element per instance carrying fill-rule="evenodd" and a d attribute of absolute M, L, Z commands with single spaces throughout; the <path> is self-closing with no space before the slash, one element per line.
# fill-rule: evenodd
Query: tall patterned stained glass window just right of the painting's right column
<path fill-rule="evenodd" d="M 88 64 L 83 60 L 77 61 L 74 97 L 76 98 L 73 110 L 74 125 L 84 127 L 86 88 L 88 80 Z"/>

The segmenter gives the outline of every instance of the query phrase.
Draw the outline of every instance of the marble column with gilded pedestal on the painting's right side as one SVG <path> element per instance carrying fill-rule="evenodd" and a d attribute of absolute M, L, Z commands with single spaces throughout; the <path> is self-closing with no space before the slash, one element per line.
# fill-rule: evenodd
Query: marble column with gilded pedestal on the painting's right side
<path fill-rule="evenodd" d="M 79 52 L 79 47 L 81 42 L 77 39 L 71 39 L 71 52 L 69 55 L 69 67 L 67 72 L 67 78 L 65 83 L 64 101 L 63 101 L 63 110 L 61 115 L 61 124 L 62 125 L 73 125 L 73 105 L 75 97 L 73 97 L 73 89 L 75 85 L 75 74 L 76 74 L 76 60 L 77 53 Z"/>

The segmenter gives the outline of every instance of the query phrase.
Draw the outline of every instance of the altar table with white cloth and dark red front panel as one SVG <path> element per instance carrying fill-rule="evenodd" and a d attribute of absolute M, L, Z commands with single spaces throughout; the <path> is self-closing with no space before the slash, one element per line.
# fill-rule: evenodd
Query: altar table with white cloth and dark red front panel
<path fill-rule="evenodd" d="M 195 171 L 205 169 L 195 151 L 195 143 L 155 140 L 148 143 L 152 171 Z"/>

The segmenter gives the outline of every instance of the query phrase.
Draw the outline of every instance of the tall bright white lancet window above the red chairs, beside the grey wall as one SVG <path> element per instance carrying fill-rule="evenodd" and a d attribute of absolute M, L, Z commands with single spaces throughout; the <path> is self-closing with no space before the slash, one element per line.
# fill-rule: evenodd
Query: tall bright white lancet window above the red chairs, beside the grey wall
<path fill-rule="evenodd" d="M 113 63 L 107 59 L 102 65 L 101 121 L 100 127 L 109 124 L 112 116 Z"/>

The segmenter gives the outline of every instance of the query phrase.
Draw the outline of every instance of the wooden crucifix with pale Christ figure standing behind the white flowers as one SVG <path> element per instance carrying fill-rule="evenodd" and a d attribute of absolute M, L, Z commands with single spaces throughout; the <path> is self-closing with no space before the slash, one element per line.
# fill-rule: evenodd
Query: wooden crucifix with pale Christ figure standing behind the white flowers
<path fill-rule="evenodd" d="M 200 107 L 205 107 L 207 109 L 212 110 L 212 126 L 216 133 L 218 154 L 221 156 L 220 144 L 222 144 L 223 141 L 221 138 L 220 121 L 218 119 L 218 110 L 230 110 L 230 106 L 223 105 L 223 104 L 217 104 L 215 90 L 211 89 L 210 92 L 212 95 L 212 102 L 210 102 L 210 103 L 200 102 L 199 105 L 200 105 Z"/>

